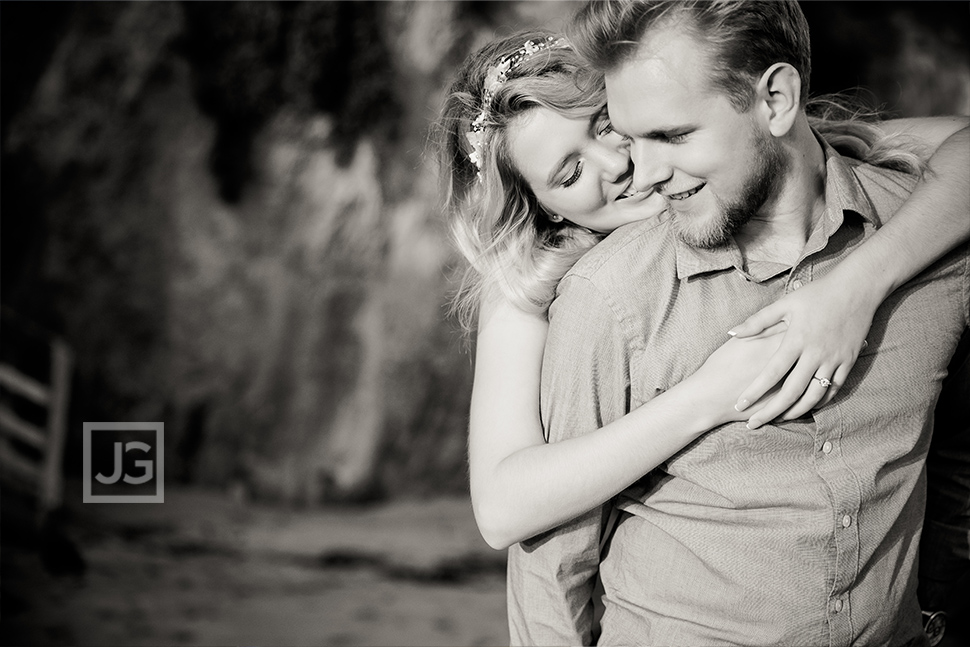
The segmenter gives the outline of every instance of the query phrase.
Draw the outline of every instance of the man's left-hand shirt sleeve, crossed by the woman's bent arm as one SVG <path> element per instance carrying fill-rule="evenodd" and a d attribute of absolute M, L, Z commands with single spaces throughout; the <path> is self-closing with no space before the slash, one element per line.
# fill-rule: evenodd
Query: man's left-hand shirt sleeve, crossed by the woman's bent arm
<path fill-rule="evenodd" d="M 594 431 L 627 411 L 630 360 L 621 320 L 587 279 L 569 276 L 549 313 L 541 411 L 548 442 Z M 509 549 L 513 645 L 592 643 L 603 505 Z"/>

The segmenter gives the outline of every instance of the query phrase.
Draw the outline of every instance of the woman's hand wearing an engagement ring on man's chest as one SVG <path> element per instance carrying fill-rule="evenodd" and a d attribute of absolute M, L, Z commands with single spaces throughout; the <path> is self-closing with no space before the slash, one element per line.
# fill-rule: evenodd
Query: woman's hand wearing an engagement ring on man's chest
<path fill-rule="evenodd" d="M 751 415 L 751 429 L 779 417 L 792 420 L 827 404 L 855 365 L 882 299 L 867 286 L 853 289 L 837 279 L 829 275 L 808 283 L 729 333 L 745 338 L 782 322 L 788 328 L 778 352 L 738 398 L 738 411 L 745 411 L 784 380 L 780 390 Z"/>

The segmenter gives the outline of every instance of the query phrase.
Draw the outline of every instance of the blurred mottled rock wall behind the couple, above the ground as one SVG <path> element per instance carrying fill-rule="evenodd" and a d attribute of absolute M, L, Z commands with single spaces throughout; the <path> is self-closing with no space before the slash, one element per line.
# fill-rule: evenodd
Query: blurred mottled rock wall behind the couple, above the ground
<path fill-rule="evenodd" d="M 186 482 L 463 491 L 427 126 L 471 50 L 575 6 L 3 3 L 0 297 L 78 351 L 67 469 L 82 421 L 164 420 Z M 804 6 L 815 92 L 970 111 L 964 3 Z"/>

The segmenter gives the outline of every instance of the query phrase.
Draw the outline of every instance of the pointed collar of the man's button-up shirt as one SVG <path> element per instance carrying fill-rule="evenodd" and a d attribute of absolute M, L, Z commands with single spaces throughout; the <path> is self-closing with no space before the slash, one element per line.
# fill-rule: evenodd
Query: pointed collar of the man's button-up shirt
<path fill-rule="evenodd" d="M 846 211 L 859 214 L 865 223 L 874 228 L 880 226 L 875 208 L 859 183 L 859 178 L 853 172 L 861 162 L 842 157 L 814 129 L 812 132 L 815 133 L 815 138 L 822 146 L 822 153 L 825 156 L 825 211 L 819 225 L 814 228 L 809 237 L 806 253 L 802 258 L 825 248 L 832 234 L 842 226 Z M 683 280 L 698 274 L 727 269 L 737 269 L 744 273 L 741 250 L 733 241 L 717 249 L 699 249 L 691 247 L 680 237 L 675 237 L 674 245 L 678 279 Z M 772 268 L 768 271 L 768 275 L 760 278 L 761 280 L 770 278 L 782 269 L 786 268 L 781 268 L 779 265 L 777 270 Z"/>

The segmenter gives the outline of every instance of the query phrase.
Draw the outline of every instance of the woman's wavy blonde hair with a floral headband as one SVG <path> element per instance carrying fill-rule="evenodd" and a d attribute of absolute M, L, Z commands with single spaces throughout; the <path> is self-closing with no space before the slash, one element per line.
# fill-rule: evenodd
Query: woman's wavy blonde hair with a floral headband
<path fill-rule="evenodd" d="M 502 82 L 495 82 L 503 61 L 521 53 L 526 43 L 540 41 L 556 45 L 519 57 Z M 467 261 L 452 301 L 466 331 L 474 329 L 481 304 L 490 298 L 544 314 L 560 279 L 603 238 L 550 219 L 553 214 L 512 164 L 509 125 L 539 107 L 592 120 L 605 104 L 602 77 L 565 41 L 545 31 L 492 42 L 460 68 L 433 133 L 444 209 Z M 844 156 L 913 174 L 925 168 L 914 142 L 887 137 L 873 123 L 874 113 L 852 108 L 843 98 L 813 100 L 807 113 L 812 127 Z"/>

